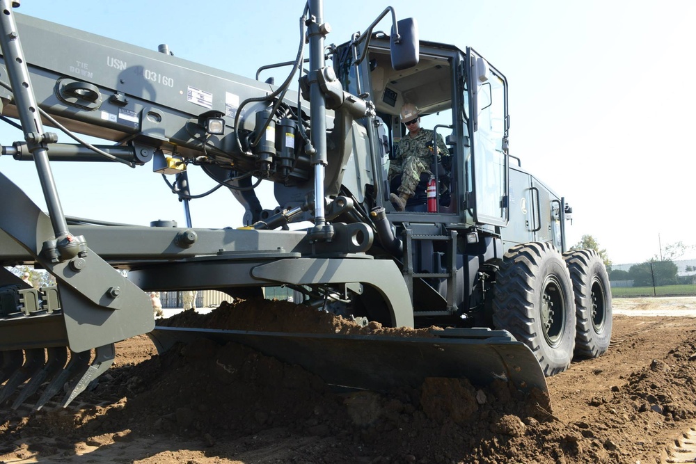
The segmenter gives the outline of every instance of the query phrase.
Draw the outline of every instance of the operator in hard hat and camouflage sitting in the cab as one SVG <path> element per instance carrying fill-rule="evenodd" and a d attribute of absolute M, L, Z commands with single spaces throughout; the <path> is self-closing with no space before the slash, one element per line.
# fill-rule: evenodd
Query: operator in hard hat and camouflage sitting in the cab
<path fill-rule="evenodd" d="M 401 109 L 401 121 L 409 129 L 409 134 L 401 139 L 396 150 L 395 159 L 389 163 L 388 179 L 391 181 L 397 175 L 402 175 L 401 185 L 397 189 L 399 195 L 391 193 L 390 202 L 397 211 L 404 211 L 406 202 L 415 194 L 420 182 L 420 175 L 428 172 L 434 163 L 433 131 L 420 127 L 420 110 L 412 103 L 406 103 Z M 442 136 L 438 135 L 438 160 L 440 155 L 448 153 L 447 145 Z"/>

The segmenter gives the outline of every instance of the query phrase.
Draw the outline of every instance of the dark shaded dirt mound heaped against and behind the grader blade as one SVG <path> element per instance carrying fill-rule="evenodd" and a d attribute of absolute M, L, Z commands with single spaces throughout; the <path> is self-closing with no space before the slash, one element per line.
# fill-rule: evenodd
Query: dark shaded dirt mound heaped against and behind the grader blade
<path fill-rule="evenodd" d="M 209 314 L 187 311 L 165 324 L 346 335 L 399 332 L 427 336 L 430 332 L 386 329 L 379 323 L 361 327 L 333 314 L 282 301 L 226 304 Z M 134 400 L 136 409 L 149 408 L 145 415 L 158 417 L 143 424 L 145 433 L 166 431 L 201 435 L 207 440 L 233 439 L 280 426 L 308 435 L 338 437 L 347 443 L 379 442 L 383 456 L 424 458 L 438 449 L 443 458 L 451 459 L 452 445 L 457 447 L 472 433 L 480 433 L 477 423 L 517 415 L 532 422 L 533 417 L 543 420 L 548 416 L 503 381 L 475 389 L 464 379 L 429 378 L 417 389 L 336 393 L 300 367 L 244 346 L 218 346 L 207 339 L 143 362 L 134 371 L 143 379 L 143 389 Z M 145 389 L 155 379 L 154 388 Z M 197 406 L 182 406 L 189 403 Z M 450 433 L 441 438 L 422 433 L 422 429 L 443 427 Z M 409 437 L 406 445 L 404 436 Z M 453 438 L 457 440 L 453 442 Z M 365 457 L 379 456 L 356 453 L 333 462 Z"/>

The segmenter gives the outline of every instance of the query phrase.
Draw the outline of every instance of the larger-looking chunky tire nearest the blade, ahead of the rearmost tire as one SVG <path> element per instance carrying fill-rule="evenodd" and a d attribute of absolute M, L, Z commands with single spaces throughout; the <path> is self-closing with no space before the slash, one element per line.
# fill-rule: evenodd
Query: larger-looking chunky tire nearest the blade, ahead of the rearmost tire
<path fill-rule="evenodd" d="M 532 350 L 544 375 L 568 369 L 576 310 L 568 268 L 547 243 L 523 243 L 507 253 L 493 287 L 493 325 Z"/>

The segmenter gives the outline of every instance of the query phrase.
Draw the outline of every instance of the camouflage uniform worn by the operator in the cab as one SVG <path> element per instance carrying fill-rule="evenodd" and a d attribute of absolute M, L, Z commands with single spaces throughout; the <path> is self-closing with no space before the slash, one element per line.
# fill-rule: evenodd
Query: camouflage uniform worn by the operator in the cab
<path fill-rule="evenodd" d="M 420 129 L 415 137 L 404 136 L 397 147 L 396 157 L 389 163 L 389 180 L 402 174 L 399 193 L 413 196 L 420 175 L 430 170 L 434 161 L 432 152 L 433 131 L 430 129 Z M 438 135 L 438 159 L 442 153 L 448 153 L 447 145 L 442 136 Z"/>

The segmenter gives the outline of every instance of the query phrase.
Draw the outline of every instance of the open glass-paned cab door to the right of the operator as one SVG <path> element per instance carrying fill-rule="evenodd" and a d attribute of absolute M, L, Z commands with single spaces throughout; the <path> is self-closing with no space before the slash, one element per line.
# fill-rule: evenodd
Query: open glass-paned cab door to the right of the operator
<path fill-rule="evenodd" d="M 509 221 L 507 80 L 470 47 L 466 58 L 473 218 L 505 226 Z"/>

